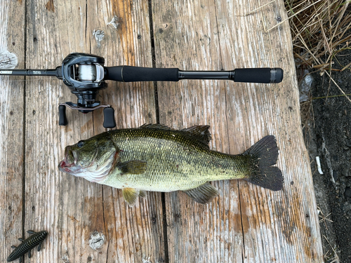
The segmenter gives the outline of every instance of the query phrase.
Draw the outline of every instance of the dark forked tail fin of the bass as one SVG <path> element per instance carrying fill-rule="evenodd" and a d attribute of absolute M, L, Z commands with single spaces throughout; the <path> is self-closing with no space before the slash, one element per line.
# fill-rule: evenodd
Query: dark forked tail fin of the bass
<path fill-rule="evenodd" d="M 252 156 L 257 168 L 245 180 L 273 191 L 281 190 L 284 182 L 282 171 L 273 166 L 277 163 L 278 151 L 279 148 L 273 135 L 263 137 L 250 149 L 247 149 L 244 155 Z"/>

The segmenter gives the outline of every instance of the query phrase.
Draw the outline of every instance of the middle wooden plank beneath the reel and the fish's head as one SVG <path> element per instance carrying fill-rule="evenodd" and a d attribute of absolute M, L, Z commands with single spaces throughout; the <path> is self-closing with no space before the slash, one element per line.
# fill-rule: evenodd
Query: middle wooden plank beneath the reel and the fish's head
<path fill-rule="evenodd" d="M 122 18 L 117 29 L 108 25 L 114 15 Z M 147 19 L 145 1 L 27 1 L 27 67 L 55 68 L 72 52 L 102 55 L 108 66 L 152 66 Z M 105 33 L 99 43 L 94 30 Z M 77 98 L 56 79 L 37 79 L 27 90 L 25 229 L 50 233 L 38 262 L 163 260 L 161 194 L 128 208 L 121 191 L 57 169 L 66 145 L 105 130 L 102 111 L 67 109 L 69 125 L 59 127 L 58 103 Z M 155 122 L 152 83 L 112 84 L 99 99 L 116 110 L 118 128 Z M 98 250 L 89 246 L 93 234 L 105 237 Z"/>

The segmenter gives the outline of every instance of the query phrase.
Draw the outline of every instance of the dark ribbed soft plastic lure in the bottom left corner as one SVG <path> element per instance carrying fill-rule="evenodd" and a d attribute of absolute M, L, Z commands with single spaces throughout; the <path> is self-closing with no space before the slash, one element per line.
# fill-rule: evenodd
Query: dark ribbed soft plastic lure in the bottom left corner
<path fill-rule="evenodd" d="M 47 231 L 40 231 L 40 232 L 34 232 L 32 230 L 27 231 L 29 234 L 32 234 L 32 236 L 29 236 L 29 238 L 23 240 L 22 238 L 18 238 L 20 245 L 18 247 L 15 247 L 14 245 L 11 245 L 11 248 L 15 248 L 13 252 L 8 256 L 7 262 L 11 262 L 15 259 L 20 258 L 20 262 L 22 262 L 22 255 L 25 255 L 25 253 L 28 252 L 28 257 L 31 257 L 30 255 L 30 250 L 35 248 L 38 245 L 38 251 L 41 248 L 41 243 L 44 241 L 46 236 L 48 236 Z"/>

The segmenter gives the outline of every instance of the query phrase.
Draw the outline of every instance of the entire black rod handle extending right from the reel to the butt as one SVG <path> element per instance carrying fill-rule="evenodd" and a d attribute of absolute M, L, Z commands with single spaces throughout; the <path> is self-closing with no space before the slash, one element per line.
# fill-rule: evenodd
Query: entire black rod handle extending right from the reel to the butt
<path fill-rule="evenodd" d="M 180 79 L 223 79 L 246 83 L 279 83 L 283 80 L 283 69 L 251 68 L 232 71 L 183 71 L 177 68 L 117 66 L 104 67 L 105 80 L 134 81 L 179 81 Z"/>

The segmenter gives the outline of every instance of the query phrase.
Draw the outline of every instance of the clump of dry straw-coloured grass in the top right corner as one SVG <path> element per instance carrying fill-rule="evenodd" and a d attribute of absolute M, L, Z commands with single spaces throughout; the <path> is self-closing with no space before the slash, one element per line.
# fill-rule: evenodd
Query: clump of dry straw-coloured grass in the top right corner
<path fill-rule="evenodd" d="M 333 58 L 351 41 L 350 0 L 285 0 L 296 65 L 333 70 Z M 350 68 L 344 65 L 344 69 Z"/>

